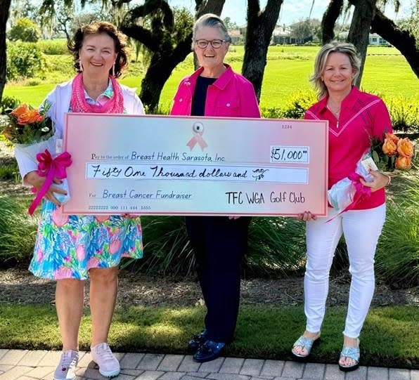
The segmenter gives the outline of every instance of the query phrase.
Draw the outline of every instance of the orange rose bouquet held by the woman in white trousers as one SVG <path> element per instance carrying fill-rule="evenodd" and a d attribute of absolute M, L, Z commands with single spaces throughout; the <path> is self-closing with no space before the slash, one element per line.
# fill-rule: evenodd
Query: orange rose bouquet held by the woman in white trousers
<path fill-rule="evenodd" d="M 371 138 L 370 150 L 356 164 L 354 173 L 338 181 L 328 190 L 328 201 L 337 211 L 350 210 L 361 199 L 370 196 L 370 188 L 363 186 L 360 179 L 373 181 L 371 169 L 383 171 L 389 176 L 388 172 L 394 169 L 411 168 L 411 159 L 415 152 L 411 140 L 398 138 L 394 133 L 385 133 L 383 140 L 384 143 L 378 138 Z"/>

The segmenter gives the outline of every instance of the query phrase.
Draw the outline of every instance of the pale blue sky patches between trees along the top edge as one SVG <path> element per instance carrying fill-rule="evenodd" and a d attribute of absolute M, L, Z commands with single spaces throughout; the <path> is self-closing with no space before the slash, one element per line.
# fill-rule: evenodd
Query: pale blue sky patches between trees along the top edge
<path fill-rule="evenodd" d="M 185 6 L 186 8 L 191 8 L 191 10 L 193 10 L 195 5 L 194 0 L 168 0 L 168 2 L 172 6 Z M 401 0 L 400 2 L 402 3 L 402 7 L 401 11 L 399 11 L 398 18 L 402 18 L 403 15 L 408 15 L 411 0 Z M 264 6 L 266 0 L 261 0 L 260 3 L 261 6 Z M 284 0 L 283 5 L 281 6 L 278 23 L 290 25 L 293 22 L 307 18 L 309 16 L 311 3 L 312 0 Z M 328 4 L 329 0 L 315 0 L 311 18 L 318 18 L 318 20 L 321 20 L 323 12 Z M 228 16 L 238 25 L 243 25 L 246 22 L 246 6 L 246 0 L 226 0 L 223 13 L 221 13 L 221 18 L 226 18 Z M 394 15 L 394 8 L 392 8 L 391 4 L 387 5 L 385 14 L 392 20 L 396 17 L 396 15 Z"/>

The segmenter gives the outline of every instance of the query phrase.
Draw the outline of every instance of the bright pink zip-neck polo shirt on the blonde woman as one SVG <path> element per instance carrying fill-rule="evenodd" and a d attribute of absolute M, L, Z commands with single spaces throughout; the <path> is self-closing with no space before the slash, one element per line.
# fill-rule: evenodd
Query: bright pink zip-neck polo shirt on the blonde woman
<path fill-rule="evenodd" d="M 370 147 L 370 137 L 382 138 L 392 133 L 392 122 L 385 103 L 378 96 L 359 91 L 355 86 L 344 98 L 340 107 L 339 123 L 326 107 L 325 97 L 312 105 L 304 119 L 328 120 L 329 122 L 329 188 L 349 176 L 356 169 L 363 154 Z M 354 209 L 372 209 L 385 202 L 384 188 L 371 193 Z"/>

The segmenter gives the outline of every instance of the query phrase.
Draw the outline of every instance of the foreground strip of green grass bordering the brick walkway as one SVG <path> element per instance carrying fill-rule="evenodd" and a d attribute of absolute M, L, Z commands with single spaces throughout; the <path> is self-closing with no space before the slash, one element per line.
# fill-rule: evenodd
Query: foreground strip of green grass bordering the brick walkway
<path fill-rule="evenodd" d="M 328 308 L 321 344 L 310 360 L 336 364 L 342 348 L 346 308 Z M 127 306 L 117 309 L 110 330 L 115 351 L 186 353 L 186 342 L 202 329 L 204 308 Z M 16 317 L 19 316 L 19 317 Z M 418 310 L 385 307 L 370 310 L 360 336 L 361 365 L 419 369 Z M 236 339 L 226 355 L 240 358 L 289 360 L 290 348 L 304 330 L 301 306 L 243 306 Z M 86 311 L 80 348 L 89 349 L 91 318 Z M 60 349 L 56 311 L 52 306 L 1 305 L 0 348 Z"/>

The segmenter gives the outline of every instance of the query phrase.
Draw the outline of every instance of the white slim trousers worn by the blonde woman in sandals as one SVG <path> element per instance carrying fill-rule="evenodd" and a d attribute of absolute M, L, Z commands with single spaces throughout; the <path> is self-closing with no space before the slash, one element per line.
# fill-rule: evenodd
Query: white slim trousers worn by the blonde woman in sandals
<path fill-rule="evenodd" d="M 385 221 L 385 204 L 374 209 L 349 210 L 307 222 L 307 264 L 304 276 L 306 329 L 319 332 L 325 315 L 329 272 L 337 243 L 344 235 L 349 256 L 351 287 L 343 334 L 357 338 L 374 294 L 374 255 Z M 330 218 L 333 218 L 330 221 Z M 327 222 L 327 223 L 326 223 Z"/>

